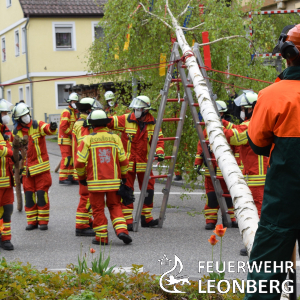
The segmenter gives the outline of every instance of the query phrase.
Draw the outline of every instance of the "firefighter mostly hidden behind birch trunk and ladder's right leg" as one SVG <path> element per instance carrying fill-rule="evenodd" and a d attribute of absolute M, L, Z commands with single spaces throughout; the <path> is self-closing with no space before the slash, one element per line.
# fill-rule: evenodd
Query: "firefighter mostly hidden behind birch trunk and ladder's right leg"
<path fill-rule="evenodd" d="M 224 101 L 218 100 L 218 101 L 216 101 L 216 104 L 217 104 L 217 108 L 219 110 L 221 119 L 230 118 L 230 116 L 225 114 L 227 112 L 226 103 Z M 205 138 L 208 139 L 206 130 L 204 130 L 204 134 L 205 134 Z M 235 149 L 234 149 L 235 147 L 231 147 L 231 148 L 235 152 Z M 215 158 L 213 152 L 210 152 L 210 154 L 211 154 L 212 158 Z M 199 141 L 198 145 L 197 145 L 197 154 L 196 154 L 196 159 L 195 159 L 195 163 L 194 163 L 199 174 L 200 174 L 200 168 L 203 163 L 205 164 L 205 160 L 204 160 L 201 143 Z M 215 161 L 213 161 L 212 164 L 214 166 L 216 175 L 222 176 L 221 170 L 218 167 L 217 163 Z M 204 207 L 204 216 L 205 216 L 205 221 L 206 221 L 205 229 L 213 230 L 213 229 L 215 229 L 215 226 L 218 221 L 218 210 L 219 210 L 220 206 L 218 203 L 217 195 L 216 195 L 216 192 L 215 192 L 215 189 L 214 189 L 207 166 L 204 167 L 204 176 L 205 176 L 204 185 L 205 185 L 205 191 L 206 191 L 206 196 L 207 196 L 207 202 Z M 224 179 L 220 179 L 220 183 L 221 183 L 221 187 L 223 189 L 224 194 L 229 194 L 229 191 L 228 191 L 228 188 L 227 188 L 227 185 L 226 185 Z M 236 222 L 236 218 L 234 215 L 234 207 L 233 207 L 231 197 L 225 197 L 225 201 L 226 201 L 226 204 L 228 207 L 228 214 L 230 215 L 232 227 L 237 228 L 238 224 Z"/>

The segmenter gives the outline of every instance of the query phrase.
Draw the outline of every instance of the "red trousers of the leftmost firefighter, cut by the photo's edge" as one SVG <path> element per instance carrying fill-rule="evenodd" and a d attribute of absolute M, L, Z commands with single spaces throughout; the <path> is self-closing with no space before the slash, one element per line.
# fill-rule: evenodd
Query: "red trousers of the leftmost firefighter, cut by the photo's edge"
<path fill-rule="evenodd" d="M 13 213 L 14 191 L 13 188 L 0 189 L 0 219 L 3 219 L 1 240 L 11 240 L 11 215 Z"/>

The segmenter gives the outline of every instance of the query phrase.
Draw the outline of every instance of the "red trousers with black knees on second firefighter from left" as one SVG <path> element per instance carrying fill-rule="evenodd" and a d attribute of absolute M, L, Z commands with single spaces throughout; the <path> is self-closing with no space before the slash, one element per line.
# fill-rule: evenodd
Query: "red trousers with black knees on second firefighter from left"
<path fill-rule="evenodd" d="M 25 212 L 28 225 L 47 225 L 49 222 L 48 191 L 52 185 L 50 171 L 35 176 L 23 176 Z"/>

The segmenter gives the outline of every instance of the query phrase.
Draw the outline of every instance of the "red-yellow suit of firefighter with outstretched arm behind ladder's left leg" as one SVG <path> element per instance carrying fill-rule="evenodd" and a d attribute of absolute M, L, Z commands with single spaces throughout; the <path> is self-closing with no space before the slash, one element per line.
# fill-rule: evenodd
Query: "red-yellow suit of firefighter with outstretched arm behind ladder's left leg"
<path fill-rule="evenodd" d="M 139 188 L 142 188 L 155 124 L 156 120 L 150 113 L 146 114 L 146 118 L 143 122 L 139 122 L 135 118 L 134 113 L 130 113 L 122 116 L 112 117 L 112 121 L 107 125 L 107 127 L 110 129 L 122 132 L 121 140 L 129 160 L 129 170 L 126 185 L 132 190 L 134 190 L 134 181 L 136 176 L 138 178 Z M 159 137 L 163 137 L 161 130 Z M 156 154 L 164 154 L 163 141 L 157 142 Z M 151 175 L 153 175 L 152 171 L 150 176 Z M 145 198 L 142 209 L 142 216 L 145 216 L 147 223 L 153 220 L 152 208 L 154 183 L 155 180 L 150 178 L 147 186 L 148 196 Z M 122 204 L 122 209 L 127 224 L 132 224 L 133 204 L 128 206 Z"/>

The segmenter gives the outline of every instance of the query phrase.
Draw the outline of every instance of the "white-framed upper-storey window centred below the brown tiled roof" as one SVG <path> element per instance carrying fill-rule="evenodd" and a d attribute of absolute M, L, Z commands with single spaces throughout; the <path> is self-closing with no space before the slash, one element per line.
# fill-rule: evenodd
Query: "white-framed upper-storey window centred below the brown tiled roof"
<path fill-rule="evenodd" d="M 75 23 L 53 23 L 54 51 L 75 49 Z"/>

